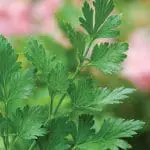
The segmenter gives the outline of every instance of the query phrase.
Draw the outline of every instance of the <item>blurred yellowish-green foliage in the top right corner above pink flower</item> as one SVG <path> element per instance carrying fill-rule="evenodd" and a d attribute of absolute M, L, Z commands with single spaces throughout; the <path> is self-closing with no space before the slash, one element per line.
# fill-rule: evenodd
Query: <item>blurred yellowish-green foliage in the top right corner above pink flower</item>
<path fill-rule="evenodd" d="M 114 0 L 118 12 L 123 14 L 121 38 L 127 39 L 137 28 L 150 27 L 149 0 Z"/>

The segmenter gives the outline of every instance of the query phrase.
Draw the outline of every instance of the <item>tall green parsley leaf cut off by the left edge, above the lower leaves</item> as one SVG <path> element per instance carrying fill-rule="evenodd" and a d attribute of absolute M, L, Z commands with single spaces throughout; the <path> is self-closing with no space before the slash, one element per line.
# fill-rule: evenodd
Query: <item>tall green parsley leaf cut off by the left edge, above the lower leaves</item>
<path fill-rule="evenodd" d="M 31 72 L 20 72 L 17 55 L 8 41 L 0 36 L 0 100 L 26 99 L 32 91 Z"/>

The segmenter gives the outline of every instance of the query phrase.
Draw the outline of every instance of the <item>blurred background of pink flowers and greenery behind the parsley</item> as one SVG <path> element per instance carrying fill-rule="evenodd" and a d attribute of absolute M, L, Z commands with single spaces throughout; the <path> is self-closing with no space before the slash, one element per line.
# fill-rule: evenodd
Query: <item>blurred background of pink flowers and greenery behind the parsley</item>
<path fill-rule="evenodd" d="M 28 67 L 28 63 L 22 52 L 29 35 L 37 36 L 48 50 L 59 53 L 60 59 L 64 59 L 63 51 L 70 44 L 57 20 L 59 18 L 71 22 L 80 30 L 78 17 L 81 15 L 82 2 L 83 0 L 0 0 L 0 34 L 10 39 L 20 54 L 19 59 L 24 68 Z M 120 26 L 121 36 L 113 40 L 129 42 L 128 58 L 122 64 L 123 70 L 117 75 L 104 76 L 94 68 L 89 68 L 85 73 L 92 73 L 101 86 L 137 89 L 124 104 L 111 106 L 103 114 L 145 121 L 144 131 L 130 143 L 134 150 L 150 150 L 150 0 L 114 2 L 114 13 L 122 13 L 123 21 Z M 47 101 L 47 90 L 42 81 L 37 81 L 37 89 L 32 98 L 24 103 L 42 105 Z M 20 102 L 13 105 L 23 104 Z M 67 104 L 64 110 L 65 107 Z"/>

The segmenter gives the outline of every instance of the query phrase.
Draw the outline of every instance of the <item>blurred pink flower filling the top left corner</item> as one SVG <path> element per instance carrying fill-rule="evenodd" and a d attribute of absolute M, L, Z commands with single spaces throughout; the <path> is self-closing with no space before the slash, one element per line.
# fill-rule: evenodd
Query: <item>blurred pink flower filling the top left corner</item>
<path fill-rule="evenodd" d="M 0 33 L 12 35 L 30 32 L 30 22 L 29 3 L 10 0 L 0 3 Z"/>

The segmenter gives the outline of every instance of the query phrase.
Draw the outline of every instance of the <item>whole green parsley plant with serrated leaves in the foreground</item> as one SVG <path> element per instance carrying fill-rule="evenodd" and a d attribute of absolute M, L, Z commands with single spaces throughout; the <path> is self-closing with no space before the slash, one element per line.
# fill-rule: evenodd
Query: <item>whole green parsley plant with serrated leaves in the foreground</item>
<path fill-rule="evenodd" d="M 57 56 L 48 53 L 44 45 L 30 38 L 25 56 L 30 62 L 22 69 L 18 55 L 9 41 L 0 36 L 0 142 L 5 150 L 127 150 L 131 146 L 125 138 L 141 129 L 142 121 L 106 118 L 97 124 L 95 116 L 107 105 L 119 104 L 134 92 L 120 87 L 102 88 L 89 75 L 82 75 L 84 68 L 94 66 L 104 74 L 116 73 L 126 58 L 127 43 L 95 44 L 98 38 L 119 35 L 120 15 L 112 15 L 112 0 L 84 2 L 83 16 L 79 18 L 84 32 L 76 31 L 69 23 L 61 28 L 72 44 L 75 69 Z M 92 54 L 89 57 L 89 50 Z M 49 104 L 17 108 L 13 103 L 28 99 L 36 87 L 36 79 L 46 84 Z M 59 99 L 58 99 L 59 98 Z M 62 112 L 66 99 L 69 109 Z"/>

